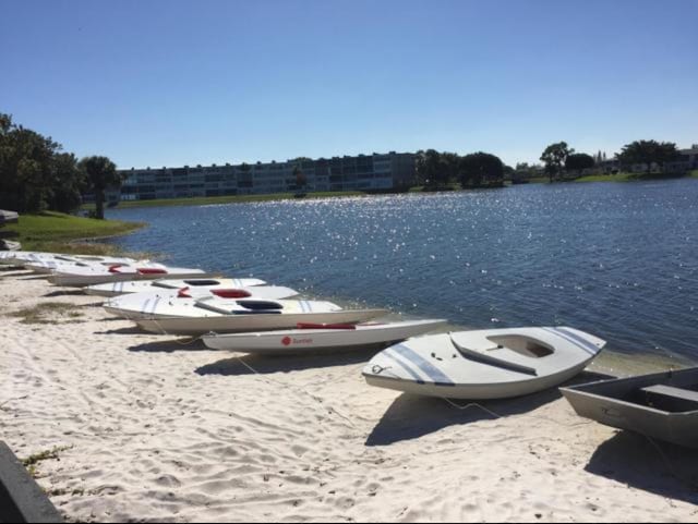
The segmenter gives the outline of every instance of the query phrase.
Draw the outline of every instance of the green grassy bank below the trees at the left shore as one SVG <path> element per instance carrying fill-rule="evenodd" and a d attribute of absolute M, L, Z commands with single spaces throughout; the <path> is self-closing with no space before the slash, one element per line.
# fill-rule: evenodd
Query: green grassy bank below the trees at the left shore
<path fill-rule="evenodd" d="M 94 220 L 60 212 L 22 215 L 16 224 L 0 233 L 22 243 L 25 251 L 107 255 L 118 253 L 112 245 L 87 242 L 131 233 L 145 224 L 118 220 Z"/>

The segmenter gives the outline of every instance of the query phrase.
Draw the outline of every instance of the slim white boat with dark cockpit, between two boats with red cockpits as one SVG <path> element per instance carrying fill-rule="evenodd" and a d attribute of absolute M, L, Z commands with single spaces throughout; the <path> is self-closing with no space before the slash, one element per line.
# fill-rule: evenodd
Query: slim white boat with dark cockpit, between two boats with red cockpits
<path fill-rule="evenodd" d="M 179 291 L 183 288 L 190 290 L 227 290 L 246 289 L 257 285 L 265 285 L 266 282 L 260 279 L 178 279 L 178 280 L 130 280 L 110 282 L 106 284 L 89 285 L 85 288 L 85 293 L 95 296 L 120 296 L 132 293 L 144 293 L 151 291 Z"/>

